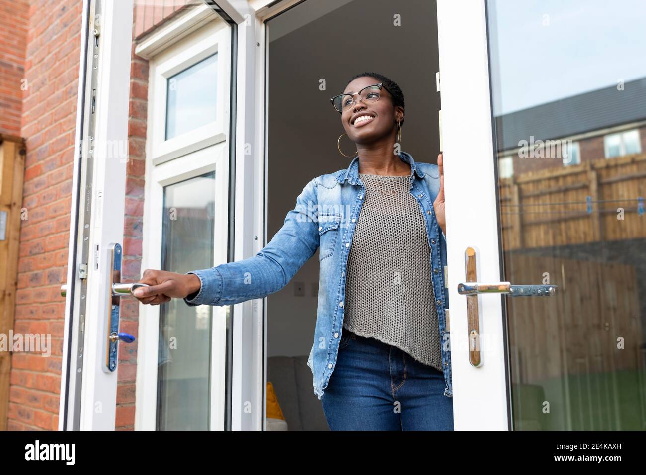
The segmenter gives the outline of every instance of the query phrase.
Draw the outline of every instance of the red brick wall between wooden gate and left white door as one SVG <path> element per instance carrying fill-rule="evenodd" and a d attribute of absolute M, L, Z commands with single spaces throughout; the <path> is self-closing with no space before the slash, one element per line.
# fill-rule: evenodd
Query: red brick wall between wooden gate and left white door
<path fill-rule="evenodd" d="M 10 8 L 15 0 L 4 1 Z M 52 355 L 12 354 L 8 429 L 58 426 L 82 2 L 28 8 L 20 135 L 26 138 L 14 332 L 50 333 Z M 13 28 L 10 25 L 10 28 Z"/>

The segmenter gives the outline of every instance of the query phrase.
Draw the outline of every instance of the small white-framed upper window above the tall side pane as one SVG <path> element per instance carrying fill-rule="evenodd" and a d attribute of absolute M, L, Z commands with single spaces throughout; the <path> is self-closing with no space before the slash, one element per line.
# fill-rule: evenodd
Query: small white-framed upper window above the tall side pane
<path fill-rule="evenodd" d="M 230 43 L 226 23 L 212 21 L 154 52 L 149 79 L 152 165 L 226 141 Z"/>

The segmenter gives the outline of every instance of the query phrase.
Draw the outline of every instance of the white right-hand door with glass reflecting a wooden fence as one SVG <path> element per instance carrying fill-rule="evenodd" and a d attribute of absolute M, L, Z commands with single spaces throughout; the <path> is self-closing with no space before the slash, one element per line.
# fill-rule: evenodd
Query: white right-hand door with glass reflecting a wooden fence
<path fill-rule="evenodd" d="M 456 430 L 646 427 L 645 16 L 437 1 Z"/>

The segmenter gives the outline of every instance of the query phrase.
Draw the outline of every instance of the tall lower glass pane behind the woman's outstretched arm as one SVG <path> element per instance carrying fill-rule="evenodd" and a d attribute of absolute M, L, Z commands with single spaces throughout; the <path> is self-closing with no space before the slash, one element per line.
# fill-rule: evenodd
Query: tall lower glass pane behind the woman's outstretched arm
<path fill-rule="evenodd" d="M 162 263 L 185 273 L 213 262 L 215 174 L 164 187 Z M 207 430 L 213 307 L 161 305 L 158 430 Z"/>

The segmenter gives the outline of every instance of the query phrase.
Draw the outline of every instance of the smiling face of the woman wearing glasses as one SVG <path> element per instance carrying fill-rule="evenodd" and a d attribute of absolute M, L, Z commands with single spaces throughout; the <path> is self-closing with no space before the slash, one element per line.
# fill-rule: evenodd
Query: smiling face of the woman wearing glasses
<path fill-rule="evenodd" d="M 371 86 L 380 81 L 364 76 L 354 79 L 346 86 L 344 94 L 359 92 L 366 86 Z M 393 105 L 393 99 L 384 88 L 380 91 L 379 100 L 364 103 L 355 96 L 357 103 L 341 113 L 341 122 L 348 137 L 355 143 L 368 144 L 388 138 L 395 131 L 396 121 L 404 116 L 401 106 Z"/>

